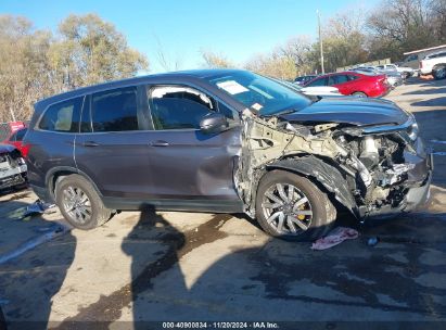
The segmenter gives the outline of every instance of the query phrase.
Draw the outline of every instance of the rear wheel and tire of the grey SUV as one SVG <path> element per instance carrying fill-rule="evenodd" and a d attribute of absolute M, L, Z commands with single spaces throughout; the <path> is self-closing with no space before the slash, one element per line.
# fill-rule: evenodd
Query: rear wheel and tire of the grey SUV
<path fill-rule="evenodd" d="M 82 176 L 73 174 L 56 183 L 55 202 L 64 218 L 75 228 L 89 230 L 105 224 L 112 211 Z"/>

